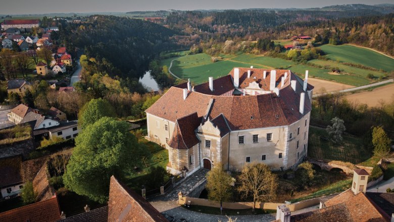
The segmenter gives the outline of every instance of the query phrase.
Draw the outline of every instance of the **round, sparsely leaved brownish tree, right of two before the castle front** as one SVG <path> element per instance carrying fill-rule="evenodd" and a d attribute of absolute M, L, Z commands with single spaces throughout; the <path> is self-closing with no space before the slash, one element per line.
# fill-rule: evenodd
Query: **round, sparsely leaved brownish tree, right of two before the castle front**
<path fill-rule="evenodd" d="M 243 165 L 239 182 L 241 186 L 238 187 L 238 191 L 242 196 L 253 198 L 252 211 L 255 211 L 256 201 L 272 201 L 276 197 L 277 178 L 264 163 L 252 162 Z"/>

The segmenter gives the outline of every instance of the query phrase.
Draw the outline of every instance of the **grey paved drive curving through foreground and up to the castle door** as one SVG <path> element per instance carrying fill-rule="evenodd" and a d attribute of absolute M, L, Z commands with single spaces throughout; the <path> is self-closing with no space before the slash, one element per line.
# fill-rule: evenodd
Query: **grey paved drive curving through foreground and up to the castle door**
<path fill-rule="evenodd" d="M 190 192 L 195 186 L 205 180 L 205 170 L 200 170 L 195 172 L 185 181 L 177 185 L 172 191 L 163 196 L 158 196 L 156 198 L 152 198 L 148 200 L 156 209 L 158 209 L 162 213 L 166 213 L 170 216 L 175 217 L 176 219 L 184 218 L 187 222 L 218 222 L 227 221 L 227 217 L 225 215 L 213 215 L 213 214 L 205 214 L 199 213 L 195 211 L 191 211 L 185 209 L 178 205 L 178 193 L 181 191 L 184 195 Z M 191 206 L 192 207 L 192 206 Z M 275 215 L 273 214 L 261 214 L 261 215 L 241 215 L 241 216 L 230 216 L 231 218 L 237 218 L 237 222 L 244 221 L 257 221 L 257 222 L 265 222 L 265 221 L 273 221 L 275 220 Z"/>

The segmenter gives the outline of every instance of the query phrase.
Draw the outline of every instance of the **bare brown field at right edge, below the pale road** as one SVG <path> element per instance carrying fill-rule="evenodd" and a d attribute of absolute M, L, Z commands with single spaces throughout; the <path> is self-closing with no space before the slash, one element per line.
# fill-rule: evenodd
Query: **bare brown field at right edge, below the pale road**
<path fill-rule="evenodd" d="M 394 99 L 394 84 L 373 89 L 372 91 L 360 92 L 345 96 L 350 101 L 367 104 L 368 106 L 379 106 L 381 102 L 390 102 Z"/>

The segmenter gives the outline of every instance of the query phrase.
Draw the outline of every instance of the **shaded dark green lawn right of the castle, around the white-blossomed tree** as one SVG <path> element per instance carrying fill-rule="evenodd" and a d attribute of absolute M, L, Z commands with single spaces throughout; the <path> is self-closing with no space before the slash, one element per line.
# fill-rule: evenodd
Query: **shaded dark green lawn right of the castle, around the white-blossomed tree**
<path fill-rule="evenodd" d="M 364 147 L 362 138 L 343 135 L 342 143 L 334 144 L 320 137 L 327 137 L 324 129 L 309 128 L 308 156 L 311 158 L 358 164 L 372 156 L 372 153 Z"/>

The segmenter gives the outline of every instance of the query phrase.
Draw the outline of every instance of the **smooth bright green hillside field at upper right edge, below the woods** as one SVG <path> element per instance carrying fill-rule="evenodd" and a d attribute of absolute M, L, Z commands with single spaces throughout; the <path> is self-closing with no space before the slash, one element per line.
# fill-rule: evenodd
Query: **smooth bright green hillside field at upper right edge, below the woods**
<path fill-rule="evenodd" d="M 360 48 L 353 45 L 325 44 L 320 47 L 328 58 L 334 61 L 355 63 L 387 72 L 394 70 L 394 59 L 388 58 L 378 52 Z"/>

